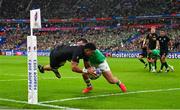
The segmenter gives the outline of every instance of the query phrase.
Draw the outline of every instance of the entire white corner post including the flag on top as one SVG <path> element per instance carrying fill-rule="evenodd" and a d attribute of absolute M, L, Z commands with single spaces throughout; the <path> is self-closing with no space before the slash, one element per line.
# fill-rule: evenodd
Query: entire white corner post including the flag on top
<path fill-rule="evenodd" d="M 27 36 L 28 103 L 38 103 L 37 37 L 33 29 L 41 28 L 40 9 L 30 10 L 30 36 Z"/>

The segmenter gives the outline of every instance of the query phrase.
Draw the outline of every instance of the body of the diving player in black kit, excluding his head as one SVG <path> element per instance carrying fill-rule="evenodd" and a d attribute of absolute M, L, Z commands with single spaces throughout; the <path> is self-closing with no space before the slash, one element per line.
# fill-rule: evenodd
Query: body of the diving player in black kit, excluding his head
<path fill-rule="evenodd" d="M 44 71 L 53 71 L 56 77 L 60 78 L 61 75 L 58 71 L 58 68 L 63 66 L 66 61 L 70 61 L 72 71 L 83 74 L 83 69 L 78 67 L 80 59 L 84 60 L 85 67 L 89 65 L 88 58 L 84 53 L 84 46 L 59 45 L 50 52 L 50 64 L 45 66 L 38 65 L 38 69 L 41 73 L 44 73 Z"/>

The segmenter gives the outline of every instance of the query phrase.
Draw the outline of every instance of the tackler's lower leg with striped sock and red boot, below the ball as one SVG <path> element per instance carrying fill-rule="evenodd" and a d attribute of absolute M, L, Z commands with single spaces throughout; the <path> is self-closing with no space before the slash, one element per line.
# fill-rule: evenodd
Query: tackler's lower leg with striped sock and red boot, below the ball
<path fill-rule="evenodd" d="M 90 79 L 88 77 L 88 74 L 83 74 L 82 77 L 84 79 L 84 82 L 87 85 L 87 87 L 85 89 L 83 89 L 82 93 L 88 93 L 93 89 L 91 81 L 90 81 Z"/>

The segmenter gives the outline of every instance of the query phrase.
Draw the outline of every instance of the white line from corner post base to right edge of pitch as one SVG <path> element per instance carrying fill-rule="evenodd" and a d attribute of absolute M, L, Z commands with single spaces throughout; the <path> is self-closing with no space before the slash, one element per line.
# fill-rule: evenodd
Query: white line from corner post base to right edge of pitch
<path fill-rule="evenodd" d="M 91 98 L 99 98 L 99 97 L 108 97 L 108 96 L 120 96 L 120 95 L 128 95 L 128 94 L 139 94 L 139 93 L 153 93 L 153 92 L 166 92 L 166 91 L 176 91 L 180 90 L 180 88 L 169 88 L 169 89 L 156 89 L 156 90 L 142 90 L 142 91 L 132 91 L 126 93 L 115 93 L 115 94 L 103 94 L 103 95 L 95 95 L 95 96 L 87 96 L 87 97 L 74 97 L 74 98 L 66 98 L 60 100 L 51 100 L 51 101 L 42 101 L 40 103 L 53 103 L 53 102 L 65 102 L 72 100 L 83 100 L 83 99 L 91 99 Z"/>

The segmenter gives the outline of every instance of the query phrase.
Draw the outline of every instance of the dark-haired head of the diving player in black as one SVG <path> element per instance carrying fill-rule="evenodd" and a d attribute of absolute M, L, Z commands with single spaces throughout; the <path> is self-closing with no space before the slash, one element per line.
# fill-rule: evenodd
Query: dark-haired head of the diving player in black
<path fill-rule="evenodd" d="M 96 50 L 96 45 L 93 43 L 87 43 L 84 46 L 84 52 L 85 52 L 85 55 L 87 56 L 91 56 L 95 50 Z"/>

